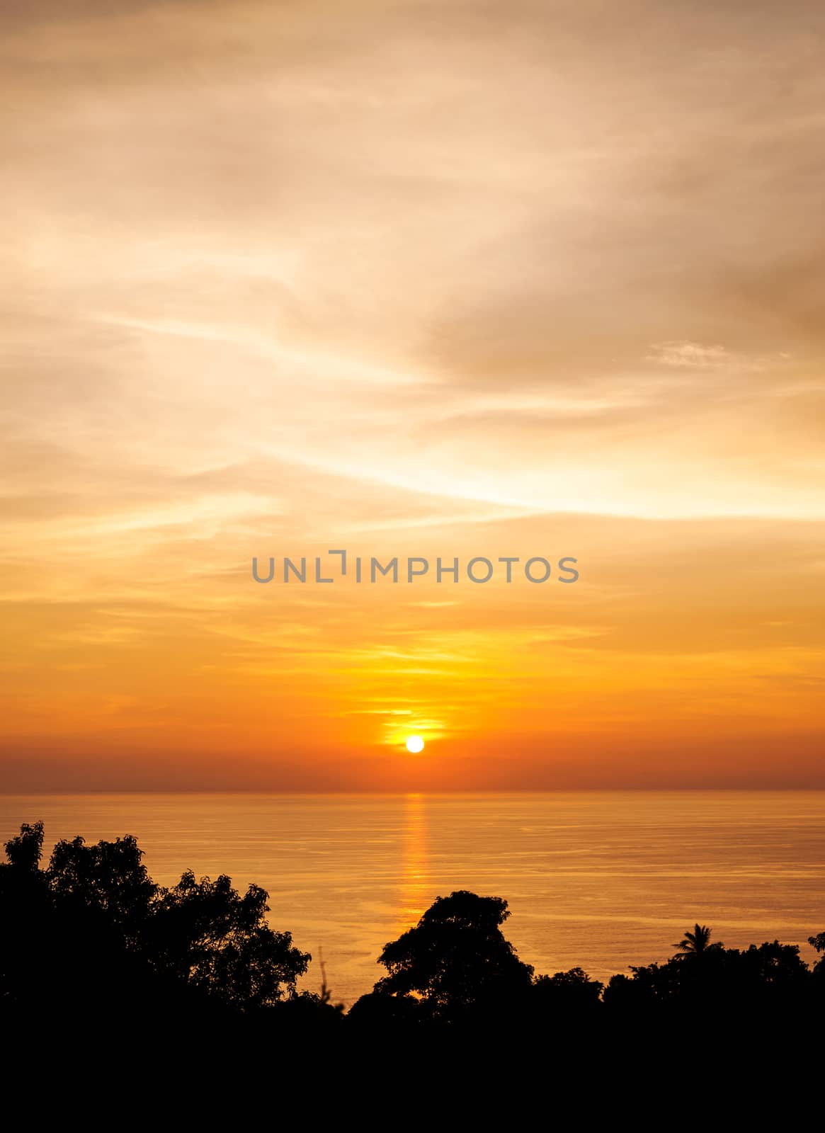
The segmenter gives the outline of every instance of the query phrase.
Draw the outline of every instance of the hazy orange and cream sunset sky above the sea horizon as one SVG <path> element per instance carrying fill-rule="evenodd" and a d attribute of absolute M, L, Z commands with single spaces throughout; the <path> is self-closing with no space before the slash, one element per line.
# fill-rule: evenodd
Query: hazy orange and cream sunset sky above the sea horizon
<path fill-rule="evenodd" d="M 820 5 L 0 33 L 1 790 L 825 786 Z"/>

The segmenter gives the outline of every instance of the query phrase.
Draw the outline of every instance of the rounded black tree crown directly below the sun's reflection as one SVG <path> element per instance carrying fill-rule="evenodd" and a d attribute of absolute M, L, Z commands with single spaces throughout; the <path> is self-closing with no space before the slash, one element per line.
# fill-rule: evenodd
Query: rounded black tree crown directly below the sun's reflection
<path fill-rule="evenodd" d="M 533 968 L 504 939 L 501 926 L 509 915 L 501 897 L 466 889 L 436 897 L 415 928 L 384 945 L 379 963 L 388 974 L 375 991 L 416 996 L 434 1019 L 525 993 Z"/>

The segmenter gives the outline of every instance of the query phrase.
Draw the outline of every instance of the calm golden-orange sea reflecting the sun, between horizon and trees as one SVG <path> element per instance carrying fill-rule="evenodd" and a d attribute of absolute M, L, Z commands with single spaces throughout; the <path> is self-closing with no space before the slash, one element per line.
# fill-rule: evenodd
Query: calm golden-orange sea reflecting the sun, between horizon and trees
<path fill-rule="evenodd" d="M 0 798 L 3 841 L 36 818 L 48 846 L 136 835 L 164 885 L 187 868 L 262 885 L 272 926 L 323 954 L 347 1004 L 453 889 L 505 897 L 537 972 L 599 979 L 666 959 L 697 920 L 737 947 L 825 929 L 825 792 Z"/>

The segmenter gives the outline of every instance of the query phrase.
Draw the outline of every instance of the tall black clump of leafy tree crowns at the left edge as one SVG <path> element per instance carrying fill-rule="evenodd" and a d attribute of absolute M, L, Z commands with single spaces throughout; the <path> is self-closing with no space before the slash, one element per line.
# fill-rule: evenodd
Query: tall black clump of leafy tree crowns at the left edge
<path fill-rule="evenodd" d="M 130 835 L 58 842 L 45 870 L 37 868 L 42 845 L 43 824 L 24 824 L 0 867 L 0 913 L 15 926 L 0 939 L 0 993 L 9 1002 L 36 994 L 67 1012 L 102 1011 L 116 1003 L 116 988 L 168 999 L 177 985 L 252 1011 L 295 996 L 312 957 L 269 927 L 260 886 L 241 896 L 224 875 L 198 881 L 187 871 L 161 888 Z"/>

